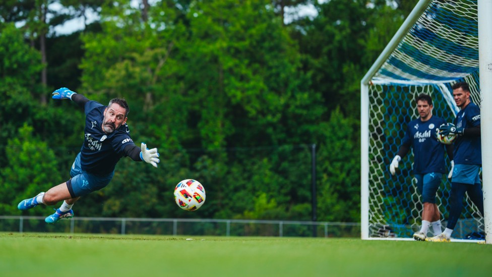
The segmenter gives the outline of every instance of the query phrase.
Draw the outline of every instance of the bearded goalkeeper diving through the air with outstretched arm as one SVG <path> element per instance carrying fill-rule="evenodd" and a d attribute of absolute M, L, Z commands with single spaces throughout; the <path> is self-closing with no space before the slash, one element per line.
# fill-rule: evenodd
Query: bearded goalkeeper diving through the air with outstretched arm
<path fill-rule="evenodd" d="M 72 178 L 33 198 L 21 201 L 17 206 L 20 210 L 28 210 L 41 203 L 54 205 L 64 200 L 55 213 L 45 218 L 46 223 L 73 217 L 74 203 L 81 196 L 106 187 L 121 157 L 144 160 L 156 168 L 159 163 L 157 148 L 149 150 L 145 143 L 138 147 L 130 137 L 130 129 L 126 123 L 129 107 L 125 99 L 114 98 L 104 106 L 68 88 L 57 89 L 52 94 L 53 99 L 71 99 L 84 108 L 86 123 L 84 143 L 70 171 Z"/>

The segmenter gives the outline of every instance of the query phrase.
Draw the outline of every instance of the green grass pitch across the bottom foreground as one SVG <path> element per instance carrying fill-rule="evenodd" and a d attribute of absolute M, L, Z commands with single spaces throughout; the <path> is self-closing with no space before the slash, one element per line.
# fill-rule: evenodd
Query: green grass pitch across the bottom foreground
<path fill-rule="evenodd" d="M 192 239 L 192 240 L 187 240 Z M 2 276 L 485 276 L 492 245 L 0 233 Z"/>

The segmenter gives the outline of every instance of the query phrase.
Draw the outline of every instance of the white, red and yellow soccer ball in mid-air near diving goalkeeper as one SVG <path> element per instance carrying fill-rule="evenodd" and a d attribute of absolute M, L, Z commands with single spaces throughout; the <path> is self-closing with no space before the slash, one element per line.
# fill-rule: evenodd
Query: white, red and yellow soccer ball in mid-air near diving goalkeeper
<path fill-rule="evenodd" d="M 183 180 L 174 188 L 174 201 L 183 210 L 197 210 L 205 203 L 205 188 L 196 180 Z"/>

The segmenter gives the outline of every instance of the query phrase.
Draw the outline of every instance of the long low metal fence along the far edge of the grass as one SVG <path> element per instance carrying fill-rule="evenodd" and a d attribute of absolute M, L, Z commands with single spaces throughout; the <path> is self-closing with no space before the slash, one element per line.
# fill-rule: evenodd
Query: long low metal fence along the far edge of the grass
<path fill-rule="evenodd" d="M 0 232 L 146 234 L 195 236 L 360 237 L 360 223 L 248 220 L 73 217 L 46 224 L 43 216 L 0 215 Z"/>

